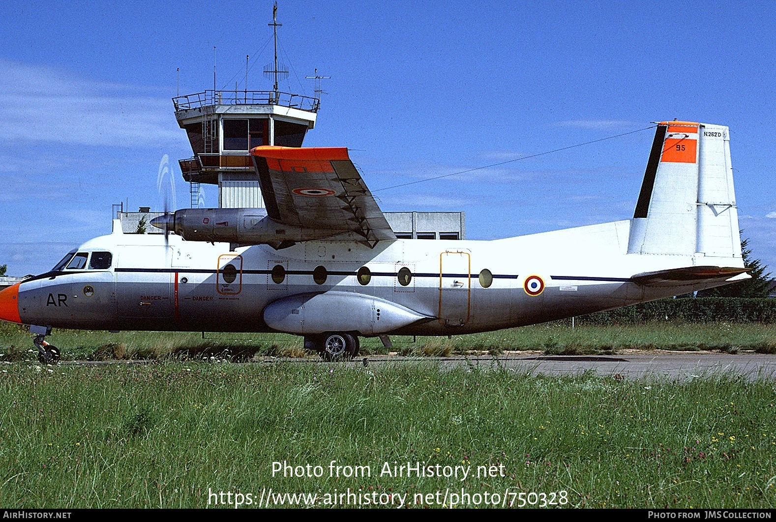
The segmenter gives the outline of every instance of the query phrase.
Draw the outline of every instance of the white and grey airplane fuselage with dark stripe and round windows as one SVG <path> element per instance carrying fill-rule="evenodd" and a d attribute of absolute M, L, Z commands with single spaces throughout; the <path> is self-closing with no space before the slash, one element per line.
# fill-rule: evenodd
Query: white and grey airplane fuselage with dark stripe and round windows
<path fill-rule="evenodd" d="M 713 259 L 629 254 L 630 226 L 616 221 L 495 241 L 400 239 L 372 249 L 314 241 L 280 250 L 230 250 L 228 243 L 175 235 L 165 242 L 162 235 L 113 233 L 78 249 L 89 256 L 110 252 L 109 268 L 87 265 L 24 281 L 19 316 L 26 324 L 63 328 L 452 335 L 583 315 L 725 282 L 632 282 L 639 273 Z M 730 265 L 730 259 L 724 262 Z"/>

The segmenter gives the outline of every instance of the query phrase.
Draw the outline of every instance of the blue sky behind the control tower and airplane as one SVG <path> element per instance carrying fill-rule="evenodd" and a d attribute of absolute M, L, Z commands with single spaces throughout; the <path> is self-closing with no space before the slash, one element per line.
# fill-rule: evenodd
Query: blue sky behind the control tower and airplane
<path fill-rule="evenodd" d="M 50 269 L 109 233 L 111 204 L 178 207 L 191 155 L 171 97 L 271 89 L 272 2 L 0 5 L 0 264 Z M 383 211 L 466 211 L 466 237 L 632 217 L 653 131 L 392 190 L 650 127 L 728 125 L 740 227 L 776 273 L 772 2 L 279 0 L 286 92 L 324 80 L 306 146 L 347 146 Z M 216 190 L 206 205 L 217 205 Z"/>

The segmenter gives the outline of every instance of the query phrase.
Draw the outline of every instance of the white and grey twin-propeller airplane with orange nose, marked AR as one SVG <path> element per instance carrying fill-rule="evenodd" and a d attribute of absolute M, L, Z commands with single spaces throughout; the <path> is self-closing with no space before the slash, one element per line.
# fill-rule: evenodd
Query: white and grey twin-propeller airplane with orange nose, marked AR
<path fill-rule="evenodd" d="M 360 337 L 487 332 L 747 279 L 728 127 L 656 124 L 633 217 L 492 241 L 399 239 L 347 148 L 250 151 L 265 209 L 165 213 L 0 292 L 39 360 L 52 328 L 286 332 L 324 360 Z"/>

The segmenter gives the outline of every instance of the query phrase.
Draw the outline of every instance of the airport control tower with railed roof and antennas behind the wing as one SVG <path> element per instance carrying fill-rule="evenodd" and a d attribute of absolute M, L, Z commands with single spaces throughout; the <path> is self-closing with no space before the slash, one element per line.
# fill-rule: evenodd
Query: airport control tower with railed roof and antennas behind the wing
<path fill-rule="evenodd" d="M 199 206 L 200 183 L 218 186 L 219 207 L 264 207 L 248 151 L 259 145 L 301 147 L 307 131 L 315 127 L 320 99 L 278 90 L 278 78 L 288 71 L 278 63 L 277 5 L 272 19 L 268 25 L 275 31 L 275 62 L 274 68 L 265 67 L 265 74 L 275 78 L 271 91 L 223 91 L 213 85 L 213 90 L 172 99 L 175 118 L 194 153 L 178 161 L 190 184 L 192 207 Z"/>

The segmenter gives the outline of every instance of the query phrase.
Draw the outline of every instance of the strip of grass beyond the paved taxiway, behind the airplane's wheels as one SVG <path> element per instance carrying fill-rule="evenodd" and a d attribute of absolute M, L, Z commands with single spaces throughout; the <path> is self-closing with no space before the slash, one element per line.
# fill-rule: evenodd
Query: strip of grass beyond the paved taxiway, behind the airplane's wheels
<path fill-rule="evenodd" d="M 65 360 L 213 359 L 248 360 L 255 355 L 303 357 L 299 336 L 285 334 L 217 334 L 199 332 L 89 332 L 54 330 L 47 340 Z M 776 325 L 741 322 L 650 322 L 625 325 L 544 325 L 466 336 L 392 336 L 394 352 L 403 355 L 449 356 L 542 350 L 555 354 L 616 353 L 618 350 L 754 350 L 776 353 Z M 386 354 L 377 339 L 362 339 L 365 355 Z M 17 325 L 0 322 L 0 360 L 35 360 L 32 336 Z"/>

